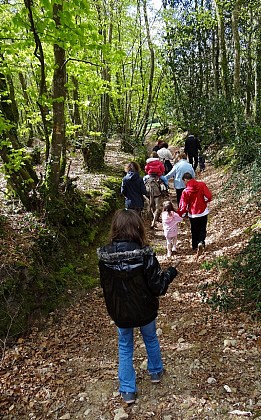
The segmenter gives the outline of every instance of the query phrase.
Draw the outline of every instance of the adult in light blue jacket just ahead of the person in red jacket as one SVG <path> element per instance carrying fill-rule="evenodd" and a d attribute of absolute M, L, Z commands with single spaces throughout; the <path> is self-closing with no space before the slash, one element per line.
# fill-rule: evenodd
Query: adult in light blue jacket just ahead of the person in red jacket
<path fill-rule="evenodd" d="M 192 175 L 192 178 L 195 178 L 195 171 L 192 165 L 187 161 L 187 156 L 185 153 L 181 153 L 178 156 L 178 162 L 173 166 L 171 171 L 165 175 L 165 179 L 169 180 L 174 178 L 174 188 L 177 194 L 177 205 L 179 206 L 180 197 L 182 191 L 185 189 L 185 183 L 182 179 L 183 175 L 188 172 Z"/>

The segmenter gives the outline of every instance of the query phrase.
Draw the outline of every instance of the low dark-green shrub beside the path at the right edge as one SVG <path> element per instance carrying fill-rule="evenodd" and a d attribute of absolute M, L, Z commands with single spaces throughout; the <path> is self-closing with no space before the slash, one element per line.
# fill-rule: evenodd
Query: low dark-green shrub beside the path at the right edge
<path fill-rule="evenodd" d="M 205 262 L 202 268 L 218 271 L 219 281 L 201 287 L 203 300 L 213 308 L 241 308 L 261 314 L 261 234 L 255 233 L 234 260 Z"/>

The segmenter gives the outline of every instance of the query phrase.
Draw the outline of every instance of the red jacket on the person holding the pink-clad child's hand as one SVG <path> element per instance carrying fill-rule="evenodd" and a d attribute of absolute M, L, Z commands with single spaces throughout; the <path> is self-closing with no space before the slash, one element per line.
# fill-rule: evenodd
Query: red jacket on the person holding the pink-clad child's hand
<path fill-rule="evenodd" d="M 204 182 L 191 179 L 182 192 L 177 213 L 184 217 L 200 217 L 208 214 L 207 203 L 212 200 L 212 193 Z"/>

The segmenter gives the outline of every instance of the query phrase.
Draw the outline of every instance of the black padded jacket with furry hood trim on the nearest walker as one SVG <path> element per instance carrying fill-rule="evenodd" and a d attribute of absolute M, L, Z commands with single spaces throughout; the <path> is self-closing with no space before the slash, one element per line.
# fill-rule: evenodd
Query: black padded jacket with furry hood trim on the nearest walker
<path fill-rule="evenodd" d="M 106 307 L 115 324 L 131 328 L 153 321 L 158 296 L 166 293 L 175 269 L 161 270 L 152 248 L 134 242 L 113 242 L 97 253 Z"/>

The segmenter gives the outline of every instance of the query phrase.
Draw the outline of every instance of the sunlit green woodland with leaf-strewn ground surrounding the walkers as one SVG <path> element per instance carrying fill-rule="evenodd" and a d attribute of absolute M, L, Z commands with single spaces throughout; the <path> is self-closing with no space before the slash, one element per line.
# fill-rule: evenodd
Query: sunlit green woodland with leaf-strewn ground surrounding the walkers
<path fill-rule="evenodd" d="M 258 0 L 0 0 L 0 417 L 261 418 L 261 5 Z M 124 165 L 197 135 L 209 244 L 162 267 L 166 376 L 123 408 L 99 288 Z M 170 190 L 175 200 L 175 193 Z M 175 310 L 173 309 L 175 307 Z M 88 386 L 87 386 L 88 384 Z"/>

